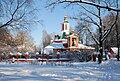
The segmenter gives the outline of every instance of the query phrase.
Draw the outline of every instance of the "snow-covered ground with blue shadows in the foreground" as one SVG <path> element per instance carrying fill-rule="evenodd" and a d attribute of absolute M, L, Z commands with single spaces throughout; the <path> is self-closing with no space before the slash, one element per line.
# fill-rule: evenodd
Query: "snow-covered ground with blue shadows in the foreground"
<path fill-rule="evenodd" d="M 120 62 L 56 65 L 0 62 L 0 81 L 120 81 Z"/>

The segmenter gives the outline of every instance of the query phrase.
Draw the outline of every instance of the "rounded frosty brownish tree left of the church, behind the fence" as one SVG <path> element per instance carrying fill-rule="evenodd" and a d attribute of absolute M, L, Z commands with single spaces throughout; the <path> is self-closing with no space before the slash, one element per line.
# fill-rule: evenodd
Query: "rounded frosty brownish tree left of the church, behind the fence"
<path fill-rule="evenodd" d="M 14 38 L 14 46 L 18 48 L 18 51 L 25 53 L 25 52 L 34 52 L 35 45 L 34 40 L 30 34 L 24 31 L 19 31 L 17 36 Z"/>

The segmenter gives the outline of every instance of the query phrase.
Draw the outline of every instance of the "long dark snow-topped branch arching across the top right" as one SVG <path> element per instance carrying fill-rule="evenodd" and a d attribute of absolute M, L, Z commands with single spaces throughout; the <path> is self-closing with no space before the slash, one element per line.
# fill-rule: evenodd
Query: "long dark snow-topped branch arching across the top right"
<path fill-rule="evenodd" d="M 54 8 L 55 6 L 57 6 L 58 4 L 61 4 L 61 3 L 68 3 L 67 6 L 69 6 L 71 4 L 76 4 L 76 3 L 83 3 L 83 4 L 87 4 L 87 5 L 107 9 L 108 11 L 110 11 L 110 10 L 112 10 L 112 11 L 120 11 L 119 8 L 111 7 L 111 5 L 114 4 L 115 0 L 103 0 L 102 1 L 102 2 L 104 2 L 103 5 L 99 4 L 98 3 L 99 1 L 100 0 L 47 0 L 47 2 L 49 3 L 47 7 L 51 6 L 52 8 Z"/>

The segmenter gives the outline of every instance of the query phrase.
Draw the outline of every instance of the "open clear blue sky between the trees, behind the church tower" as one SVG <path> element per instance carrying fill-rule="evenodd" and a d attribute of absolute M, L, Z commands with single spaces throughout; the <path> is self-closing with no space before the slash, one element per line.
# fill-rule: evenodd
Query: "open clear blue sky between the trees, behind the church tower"
<path fill-rule="evenodd" d="M 37 16 L 38 19 L 43 20 L 43 26 L 41 26 L 41 24 L 36 24 L 35 29 L 32 31 L 32 36 L 37 46 L 41 43 L 43 30 L 46 30 L 49 34 L 53 32 L 59 34 L 61 32 L 61 23 L 63 22 L 63 17 L 65 15 L 72 16 L 76 11 L 72 8 L 64 9 L 63 5 L 59 5 L 51 12 L 50 9 L 44 8 L 45 3 L 41 4 L 41 1 L 36 2 L 36 7 L 40 9 Z M 75 26 L 76 21 L 70 19 L 68 19 L 68 21 L 70 22 L 71 27 Z"/>

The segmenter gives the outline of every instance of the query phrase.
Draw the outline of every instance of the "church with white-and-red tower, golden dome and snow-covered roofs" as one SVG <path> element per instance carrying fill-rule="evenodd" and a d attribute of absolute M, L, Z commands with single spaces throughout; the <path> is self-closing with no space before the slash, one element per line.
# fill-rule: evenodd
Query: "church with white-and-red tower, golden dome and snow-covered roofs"
<path fill-rule="evenodd" d="M 93 47 L 88 47 L 78 40 L 79 35 L 75 34 L 74 30 L 70 31 L 70 23 L 67 21 L 67 17 L 64 16 L 64 22 L 61 26 L 61 35 L 55 35 L 53 42 L 45 47 L 45 50 L 49 52 L 57 52 L 58 50 L 80 50 L 80 49 L 90 49 L 94 50 Z"/>

